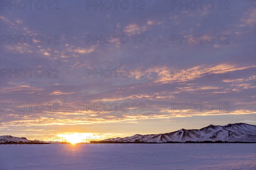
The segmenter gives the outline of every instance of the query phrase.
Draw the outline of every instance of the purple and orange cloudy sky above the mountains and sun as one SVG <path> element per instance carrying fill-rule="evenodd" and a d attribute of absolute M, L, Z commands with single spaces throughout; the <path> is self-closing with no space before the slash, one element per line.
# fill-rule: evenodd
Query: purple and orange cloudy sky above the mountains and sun
<path fill-rule="evenodd" d="M 0 3 L 1 135 L 256 125 L 253 0 Z"/>

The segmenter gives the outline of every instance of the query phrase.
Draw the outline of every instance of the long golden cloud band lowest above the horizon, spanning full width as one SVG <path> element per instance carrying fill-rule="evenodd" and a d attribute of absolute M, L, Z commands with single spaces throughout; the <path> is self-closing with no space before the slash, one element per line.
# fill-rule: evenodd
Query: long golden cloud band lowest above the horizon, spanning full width
<path fill-rule="evenodd" d="M 141 114 L 115 114 L 108 116 L 107 114 L 101 114 L 101 118 L 91 118 L 86 115 L 77 115 L 72 118 L 72 115 L 66 116 L 20 116 L 17 120 L 9 120 L 1 123 L 2 128 L 19 127 L 19 126 L 49 126 L 49 125 L 89 125 L 98 123 L 113 123 L 113 122 L 125 122 L 128 121 L 135 123 L 139 120 L 147 119 L 172 119 L 177 117 L 191 117 L 191 116 L 210 116 L 210 115 L 242 115 L 242 114 L 255 114 L 252 110 L 235 110 L 235 111 L 180 111 L 162 109 L 159 113 L 141 113 Z"/>

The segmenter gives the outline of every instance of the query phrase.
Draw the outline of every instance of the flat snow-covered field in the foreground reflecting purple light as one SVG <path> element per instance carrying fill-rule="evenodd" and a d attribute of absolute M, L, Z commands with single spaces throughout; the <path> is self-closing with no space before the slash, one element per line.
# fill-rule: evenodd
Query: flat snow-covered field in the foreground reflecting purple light
<path fill-rule="evenodd" d="M 256 144 L 0 145 L 1 170 L 255 170 Z"/>

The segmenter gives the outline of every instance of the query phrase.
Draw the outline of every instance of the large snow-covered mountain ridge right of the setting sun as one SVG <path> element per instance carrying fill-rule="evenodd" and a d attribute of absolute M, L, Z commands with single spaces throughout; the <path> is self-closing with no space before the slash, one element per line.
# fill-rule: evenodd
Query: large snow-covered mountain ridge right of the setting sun
<path fill-rule="evenodd" d="M 225 126 L 209 125 L 201 129 L 180 129 L 171 133 L 140 135 L 125 138 L 105 139 L 102 142 L 256 142 L 256 126 L 246 123 L 228 124 Z"/>

